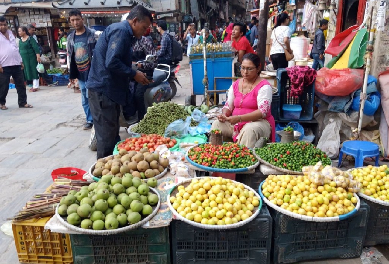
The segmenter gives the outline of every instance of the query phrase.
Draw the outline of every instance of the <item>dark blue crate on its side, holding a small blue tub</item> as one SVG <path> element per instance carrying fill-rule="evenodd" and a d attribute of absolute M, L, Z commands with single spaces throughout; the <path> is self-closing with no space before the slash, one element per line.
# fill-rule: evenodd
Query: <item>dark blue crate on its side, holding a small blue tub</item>
<path fill-rule="evenodd" d="M 279 120 L 290 121 L 284 118 L 284 111 L 282 106 L 284 104 L 298 104 L 301 106 L 302 111 L 300 118 L 296 121 L 308 121 L 314 117 L 314 97 L 315 97 L 315 81 L 304 87 L 303 94 L 298 98 L 290 96 L 291 93 L 291 81 L 289 79 L 286 69 L 277 70 L 277 88 L 280 95 L 280 115 Z"/>

